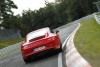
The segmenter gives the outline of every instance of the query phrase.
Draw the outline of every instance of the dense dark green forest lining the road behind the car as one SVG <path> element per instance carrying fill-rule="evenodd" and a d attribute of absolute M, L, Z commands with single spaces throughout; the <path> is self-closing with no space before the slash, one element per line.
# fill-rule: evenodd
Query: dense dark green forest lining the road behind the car
<path fill-rule="evenodd" d="M 46 7 L 39 10 L 23 10 L 14 15 L 17 5 L 12 0 L 0 0 L 0 28 L 18 29 L 23 37 L 30 31 L 43 27 L 57 28 L 86 15 L 97 12 L 93 2 L 98 0 L 55 0 L 45 1 Z"/>

